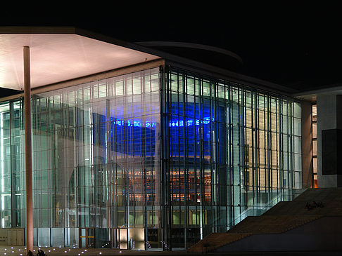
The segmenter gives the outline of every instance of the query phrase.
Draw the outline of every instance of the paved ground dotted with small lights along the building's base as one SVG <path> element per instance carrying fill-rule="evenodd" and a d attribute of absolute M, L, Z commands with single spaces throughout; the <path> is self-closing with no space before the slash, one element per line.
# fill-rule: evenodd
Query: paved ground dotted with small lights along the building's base
<path fill-rule="evenodd" d="M 37 249 L 34 248 L 34 255 L 37 255 Z M 161 252 L 161 251 L 144 251 L 144 250 L 119 250 L 119 249 L 84 249 L 84 248 L 42 248 L 44 252 L 46 252 L 46 256 L 57 256 L 57 255 L 65 255 L 65 256 L 111 256 L 111 255 L 126 255 L 126 256 L 135 256 L 135 255 L 145 255 L 145 256 L 196 256 L 198 253 L 190 253 L 186 251 L 172 251 L 172 252 Z M 0 245 L 0 256 L 26 256 L 26 250 L 24 246 L 6 246 Z M 227 255 L 227 256 L 335 256 L 341 255 L 342 252 L 229 252 L 229 253 L 208 253 L 208 256 L 215 255 Z"/>

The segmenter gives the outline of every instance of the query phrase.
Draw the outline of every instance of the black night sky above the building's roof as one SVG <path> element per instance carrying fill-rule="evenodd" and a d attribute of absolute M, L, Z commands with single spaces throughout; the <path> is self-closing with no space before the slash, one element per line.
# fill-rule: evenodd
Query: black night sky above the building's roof
<path fill-rule="evenodd" d="M 270 6 L 160 6 L 94 8 L 60 15 L 2 17 L 0 25 L 72 25 L 125 41 L 183 41 L 230 50 L 241 73 L 298 90 L 342 80 L 338 5 L 286 1 Z M 334 2 L 333 2 L 334 3 Z M 133 5 L 134 3 L 132 3 Z M 310 4 L 310 6 L 308 5 Z M 157 14 L 159 13 L 159 14 Z"/>

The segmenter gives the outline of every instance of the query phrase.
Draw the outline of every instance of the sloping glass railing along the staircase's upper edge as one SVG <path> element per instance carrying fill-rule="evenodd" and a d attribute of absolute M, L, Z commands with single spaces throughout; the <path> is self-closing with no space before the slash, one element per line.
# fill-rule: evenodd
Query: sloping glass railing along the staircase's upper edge
<path fill-rule="evenodd" d="M 229 223 L 228 229 L 232 229 L 236 224 L 246 219 L 248 216 L 260 216 L 270 210 L 280 201 L 292 201 L 294 198 L 303 193 L 305 189 L 293 189 L 292 191 L 286 191 L 286 193 L 281 192 L 276 198 L 273 198 L 269 203 L 262 203 L 251 208 L 244 210 L 238 217 L 236 217 L 232 222 Z"/>

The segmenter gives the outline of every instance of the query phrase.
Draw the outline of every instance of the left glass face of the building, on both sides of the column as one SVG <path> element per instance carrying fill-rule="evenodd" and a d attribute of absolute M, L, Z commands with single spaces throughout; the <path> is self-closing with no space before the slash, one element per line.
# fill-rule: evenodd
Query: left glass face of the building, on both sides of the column
<path fill-rule="evenodd" d="M 159 76 L 32 96 L 35 245 L 161 246 Z M 0 106 L 1 227 L 25 227 L 22 106 Z"/>

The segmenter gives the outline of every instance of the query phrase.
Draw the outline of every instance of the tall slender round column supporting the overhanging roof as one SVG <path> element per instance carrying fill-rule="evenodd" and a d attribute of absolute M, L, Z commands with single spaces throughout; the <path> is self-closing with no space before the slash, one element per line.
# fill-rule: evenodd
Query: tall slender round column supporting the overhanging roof
<path fill-rule="evenodd" d="M 30 47 L 24 46 L 24 112 L 25 112 L 25 171 L 26 171 L 26 250 L 33 252 L 32 209 L 32 137 L 31 137 L 31 77 Z"/>

